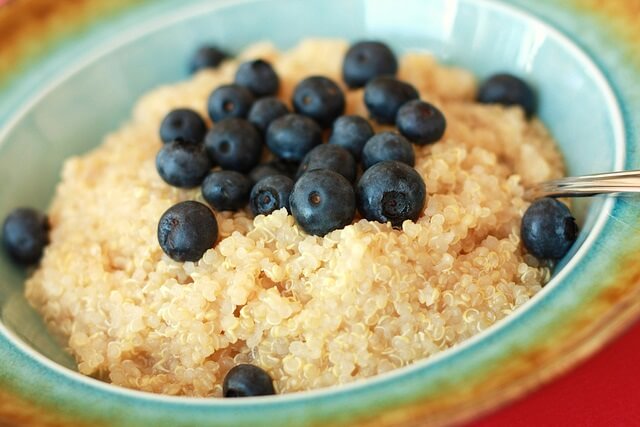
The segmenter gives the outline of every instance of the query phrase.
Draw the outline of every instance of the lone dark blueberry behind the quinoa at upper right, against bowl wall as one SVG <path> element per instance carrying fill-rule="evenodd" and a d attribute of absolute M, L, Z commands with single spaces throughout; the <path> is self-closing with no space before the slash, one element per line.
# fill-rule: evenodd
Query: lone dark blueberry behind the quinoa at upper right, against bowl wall
<path fill-rule="evenodd" d="M 527 117 L 536 112 L 536 95 L 523 80 L 511 74 L 495 74 L 478 90 L 478 102 L 483 104 L 519 105 Z"/>

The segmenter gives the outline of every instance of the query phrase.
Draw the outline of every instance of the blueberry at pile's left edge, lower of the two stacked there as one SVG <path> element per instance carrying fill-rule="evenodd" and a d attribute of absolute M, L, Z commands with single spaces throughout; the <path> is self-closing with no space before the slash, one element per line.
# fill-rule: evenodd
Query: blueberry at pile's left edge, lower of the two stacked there
<path fill-rule="evenodd" d="M 200 185 L 212 167 L 202 144 L 172 141 L 164 144 L 156 156 L 160 177 L 169 185 L 192 188 Z"/>

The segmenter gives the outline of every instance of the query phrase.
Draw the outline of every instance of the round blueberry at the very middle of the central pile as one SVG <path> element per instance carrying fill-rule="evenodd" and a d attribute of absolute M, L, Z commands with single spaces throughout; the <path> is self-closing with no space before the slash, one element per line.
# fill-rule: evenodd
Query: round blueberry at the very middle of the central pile
<path fill-rule="evenodd" d="M 271 122 L 266 141 L 276 156 L 299 162 L 313 147 L 322 143 L 322 129 L 306 116 L 287 114 Z"/>

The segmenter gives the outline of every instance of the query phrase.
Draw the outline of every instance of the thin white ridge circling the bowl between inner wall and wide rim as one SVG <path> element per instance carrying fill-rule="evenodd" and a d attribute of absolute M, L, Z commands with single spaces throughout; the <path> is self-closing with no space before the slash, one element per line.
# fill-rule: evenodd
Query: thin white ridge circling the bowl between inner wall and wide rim
<path fill-rule="evenodd" d="M 119 34 L 112 40 L 103 41 L 98 47 L 87 53 L 86 56 L 79 58 L 68 68 L 64 69 L 52 79 L 49 79 L 46 86 L 30 97 L 26 102 L 20 105 L 20 108 L 15 113 L 11 114 L 7 121 L 2 124 L 0 128 L 0 144 L 6 140 L 7 135 L 14 128 L 28 111 L 36 105 L 42 98 L 47 96 L 48 93 L 53 91 L 57 86 L 65 82 L 67 79 L 72 78 L 74 74 L 80 72 L 84 67 L 95 62 L 100 57 L 108 54 L 111 51 L 117 50 L 127 43 L 136 40 L 144 35 L 151 34 L 163 27 L 169 26 L 173 23 L 189 19 L 196 16 L 199 13 L 212 13 L 216 9 L 225 8 L 228 6 L 236 6 L 243 3 L 257 3 L 268 2 L 269 0 L 218 0 L 213 3 L 196 3 L 190 5 L 184 5 L 180 11 L 177 11 L 173 15 L 160 14 L 156 15 L 148 22 L 142 23 L 137 28 L 132 28 L 130 31 Z M 626 162 L 626 149 L 627 149 L 627 131 L 624 125 L 624 116 L 621 109 L 621 101 L 616 95 L 613 83 L 608 78 L 606 72 L 597 64 L 589 53 L 582 49 L 578 43 L 556 28 L 555 26 L 543 21 L 533 12 L 506 4 L 498 0 L 458 0 L 459 3 L 470 4 L 482 4 L 482 7 L 493 8 L 502 13 L 515 15 L 518 19 L 525 20 L 529 23 L 533 23 L 537 27 L 543 29 L 545 34 L 554 38 L 559 44 L 573 53 L 573 56 L 578 59 L 582 64 L 585 64 L 589 68 L 589 75 L 597 82 L 600 90 L 607 99 L 606 110 L 615 120 L 612 124 L 613 132 L 616 135 L 614 138 L 614 170 L 623 169 Z M 487 336 L 495 336 L 500 331 L 504 331 L 509 324 L 515 322 L 517 319 L 521 319 L 526 313 L 529 313 L 532 306 L 535 306 L 543 298 L 548 297 L 550 293 L 555 290 L 559 284 L 566 279 L 566 277 L 575 269 L 576 264 L 584 258 L 585 253 L 592 247 L 597 238 L 602 234 L 605 224 L 611 221 L 610 214 L 613 210 L 614 200 L 609 198 L 601 206 L 597 217 L 594 221 L 593 228 L 586 239 L 582 242 L 582 245 L 573 254 L 569 262 L 563 266 L 563 268 L 555 274 L 550 282 L 536 294 L 534 298 L 527 301 L 520 306 L 516 311 L 493 324 L 491 327 L 484 331 L 479 332 L 471 338 L 466 339 L 464 342 L 455 345 L 452 348 L 443 350 L 437 354 L 429 356 L 426 359 L 416 361 L 408 366 L 394 369 L 390 372 L 379 374 L 373 377 L 358 379 L 348 384 L 334 385 L 324 387 L 315 390 L 301 391 L 295 393 L 287 393 L 277 396 L 255 397 L 245 399 L 211 399 L 202 397 L 187 397 L 187 396 L 169 396 L 155 394 L 151 392 L 127 389 L 120 386 L 115 386 L 110 383 L 105 383 L 94 378 L 80 374 L 77 371 L 65 368 L 48 359 L 46 356 L 39 353 L 37 350 L 31 348 L 25 343 L 15 332 L 10 330 L 3 322 L 0 322 L 0 334 L 4 335 L 9 342 L 11 342 L 17 349 L 19 349 L 24 355 L 30 357 L 33 361 L 46 366 L 53 371 L 62 374 L 73 382 L 81 382 L 92 388 L 97 388 L 106 392 L 107 394 L 119 394 L 136 399 L 143 399 L 148 401 L 157 401 L 158 403 L 173 403 L 181 406 L 245 406 L 245 405 L 266 405 L 274 401 L 278 403 L 286 403 L 290 401 L 309 400 L 315 397 L 322 397 L 326 395 L 335 395 L 336 392 L 348 393 L 354 389 L 366 388 L 371 384 L 381 384 L 397 379 L 398 377 L 410 376 L 410 374 L 416 370 L 422 370 L 427 366 L 433 366 L 439 361 L 445 358 L 451 358 L 453 355 L 460 354 L 465 350 L 469 350 L 475 346 L 478 342 L 484 341 Z"/>

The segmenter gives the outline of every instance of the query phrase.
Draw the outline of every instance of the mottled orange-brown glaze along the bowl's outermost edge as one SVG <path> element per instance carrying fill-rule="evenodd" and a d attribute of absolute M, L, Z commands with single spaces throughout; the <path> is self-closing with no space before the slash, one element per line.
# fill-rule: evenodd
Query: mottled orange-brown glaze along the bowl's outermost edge
<path fill-rule="evenodd" d="M 87 28 L 101 17 L 120 10 L 127 0 L 13 0 L 0 6 L 0 85 L 28 66 L 57 42 Z M 593 15 L 625 41 L 629 60 L 640 66 L 640 0 L 565 0 L 577 13 Z M 621 259 L 617 275 L 603 292 L 594 294 L 562 325 L 543 331 L 526 349 L 514 349 L 473 377 L 465 388 L 458 384 L 439 390 L 432 400 L 414 406 L 389 408 L 383 415 L 363 418 L 358 425 L 448 425 L 494 410 L 537 388 L 580 362 L 624 330 L 640 314 L 640 265 L 633 257 Z M 594 320 L 597 319 L 597 320 Z M 349 422 L 350 425 L 353 423 Z M 85 426 L 64 418 L 52 408 L 0 390 L 0 425 Z"/>

